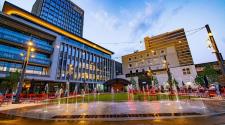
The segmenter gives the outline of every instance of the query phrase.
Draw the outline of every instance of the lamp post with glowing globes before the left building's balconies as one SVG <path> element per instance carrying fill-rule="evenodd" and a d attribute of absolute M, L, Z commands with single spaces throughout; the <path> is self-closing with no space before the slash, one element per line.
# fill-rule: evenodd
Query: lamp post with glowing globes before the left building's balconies
<path fill-rule="evenodd" d="M 16 92 L 16 99 L 15 99 L 15 103 L 19 103 L 19 98 L 20 98 L 20 93 L 22 92 L 22 86 L 23 86 L 23 82 L 24 82 L 24 76 L 25 76 L 25 72 L 26 72 L 26 67 L 27 64 L 29 62 L 30 57 L 34 57 L 33 55 L 31 55 L 31 52 L 34 52 L 35 49 L 33 48 L 33 41 L 29 40 L 27 42 L 27 54 L 26 57 L 24 58 L 24 62 L 22 65 L 22 71 L 21 71 L 21 75 L 20 75 L 20 80 L 17 86 L 17 92 Z M 23 53 L 20 54 L 20 56 L 24 56 Z"/>

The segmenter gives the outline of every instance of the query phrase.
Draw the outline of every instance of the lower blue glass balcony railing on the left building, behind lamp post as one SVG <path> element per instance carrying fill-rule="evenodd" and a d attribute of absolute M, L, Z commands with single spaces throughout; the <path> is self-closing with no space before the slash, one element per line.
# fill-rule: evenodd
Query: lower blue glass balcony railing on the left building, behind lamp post
<path fill-rule="evenodd" d="M 2 52 L 0 50 L 0 58 L 5 59 L 11 59 L 11 60 L 17 60 L 17 61 L 23 61 L 23 57 L 21 57 L 19 54 L 13 54 L 8 52 Z M 38 58 L 30 58 L 31 63 L 41 64 L 41 65 L 50 65 L 51 61 L 49 59 L 38 59 Z"/>

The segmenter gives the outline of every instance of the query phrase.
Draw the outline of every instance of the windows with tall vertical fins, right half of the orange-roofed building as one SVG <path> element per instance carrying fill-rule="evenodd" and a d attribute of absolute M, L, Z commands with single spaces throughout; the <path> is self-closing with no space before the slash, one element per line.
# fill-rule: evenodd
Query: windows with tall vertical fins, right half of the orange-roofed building
<path fill-rule="evenodd" d="M 113 65 L 111 59 L 62 44 L 57 77 L 66 79 L 69 76 L 73 80 L 103 82 L 113 78 Z"/>

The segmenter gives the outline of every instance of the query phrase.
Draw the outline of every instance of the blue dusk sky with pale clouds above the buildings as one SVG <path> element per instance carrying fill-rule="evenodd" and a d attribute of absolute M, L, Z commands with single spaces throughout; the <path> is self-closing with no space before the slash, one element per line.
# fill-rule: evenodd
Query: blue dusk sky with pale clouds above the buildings
<path fill-rule="evenodd" d="M 4 0 L 0 0 L 3 5 Z M 6 0 L 31 11 L 35 0 Z M 84 38 L 115 52 L 113 59 L 143 50 L 145 36 L 184 28 L 190 31 L 209 24 L 225 58 L 224 0 L 72 0 L 85 11 Z M 215 61 L 207 48 L 205 29 L 187 39 L 194 63 Z"/>

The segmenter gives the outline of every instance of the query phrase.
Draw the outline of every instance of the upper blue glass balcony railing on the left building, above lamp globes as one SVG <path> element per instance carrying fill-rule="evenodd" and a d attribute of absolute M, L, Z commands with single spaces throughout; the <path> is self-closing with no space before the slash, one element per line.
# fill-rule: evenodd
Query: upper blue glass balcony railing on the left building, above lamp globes
<path fill-rule="evenodd" d="M 11 42 L 16 42 L 16 43 L 19 43 L 19 44 L 26 44 L 26 42 L 29 40 L 29 39 L 26 39 L 26 38 L 20 38 L 17 35 L 7 34 L 7 32 L 3 32 L 1 30 L 0 30 L 0 39 L 8 40 L 8 41 L 11 41 Z M 35 43 L 36 48 L 39 48 L 39 49 L 42 49 L 42 50 L 45 50 L 45 51 L 48 51 L 48 52 L 53 51 L 53 48 L 52 48 L 51 45 L 40 44 L 41 40 L 33 39 L 33 42 Z"/>

